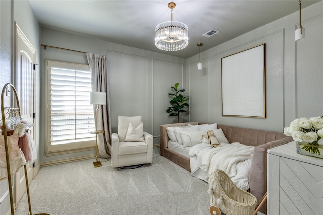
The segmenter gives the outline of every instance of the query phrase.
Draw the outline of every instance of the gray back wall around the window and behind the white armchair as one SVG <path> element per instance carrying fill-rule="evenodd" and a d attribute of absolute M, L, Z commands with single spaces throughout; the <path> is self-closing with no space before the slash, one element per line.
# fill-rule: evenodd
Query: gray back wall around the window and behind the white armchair
<path fill-rule="evenodd" d="M 180 88 L 185 87 L 185 59 L 46 27 L 41 28 L 41 44 L 107 56 L 107 81 L 113 132 L 117 132 L 119 115 L 141 115 L 144 130 L 153 134 L 154 144 L 159 144 L 160 125 L 177 122 L 176 117 L 169 117 L 166 113 L 170 101 L 168 93 L 176 82 L 180 83 Z M 41 48 L 40 55 L 41 89 L 45 89 L 44 62 L 46 59 L 88 64 L 86 55 L 78 52 L 47 47 Z M 45 103 L 44 99 L 45 94 L 42 91 L 41 104 Z M 41 110 L 41 118 L 45 118 L 44 109 Z M 95 153 L 90 151 L 46 156 L 44 154 L 45 121 L 41 121 L 40 124 L 42 128 L 40 131 L 41 162 Z"/>

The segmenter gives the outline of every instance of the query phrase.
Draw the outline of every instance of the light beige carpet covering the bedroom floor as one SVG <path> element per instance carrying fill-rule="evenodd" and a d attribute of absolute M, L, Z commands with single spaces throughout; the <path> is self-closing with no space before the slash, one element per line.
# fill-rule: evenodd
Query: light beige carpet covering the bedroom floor
<path fill-rule="evenodd" d="M 110 159 L 43 167 L 30 183 L 32 213 L 209 214 L 208 184 L 159 155 L 137 169 L 112 168 Z M 26 194 L 17 215 L 28 214 Z"/>

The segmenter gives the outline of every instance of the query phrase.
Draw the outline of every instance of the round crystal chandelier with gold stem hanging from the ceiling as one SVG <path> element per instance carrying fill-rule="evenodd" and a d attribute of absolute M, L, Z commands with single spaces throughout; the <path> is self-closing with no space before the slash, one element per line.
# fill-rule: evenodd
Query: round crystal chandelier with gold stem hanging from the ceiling
<path fill-rule="evenodd" d="M 171 21 L 157 25 L 155 32 L 155 45 L 164 51 L 179 51 L 188 45 L 188 27 L 182 22 L 173 21 L 174 2 L 168 3 L 172 10 Z"/>

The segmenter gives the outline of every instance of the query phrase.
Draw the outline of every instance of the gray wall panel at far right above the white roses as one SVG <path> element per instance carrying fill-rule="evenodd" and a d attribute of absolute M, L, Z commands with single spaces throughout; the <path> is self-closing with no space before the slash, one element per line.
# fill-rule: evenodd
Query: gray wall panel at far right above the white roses
<path fill-rule="evenodd" d="M 322 115 L 318 108 L 323 100 L 323 95 L 318 93 L 323 81 L 322 22 L 322 13 L 306 19 L 302 22 L 305 39 L 295 42 L 296 118 Z"/>

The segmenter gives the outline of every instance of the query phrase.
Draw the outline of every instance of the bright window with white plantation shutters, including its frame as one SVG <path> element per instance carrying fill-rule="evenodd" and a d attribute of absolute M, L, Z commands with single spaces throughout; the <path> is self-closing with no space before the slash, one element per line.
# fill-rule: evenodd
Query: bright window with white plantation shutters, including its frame
<path fill-rule="evenodd" d="M 89 150 L 95 146 L 90 67 L 46 60 L 46 71 L 46 155 Z"/>

